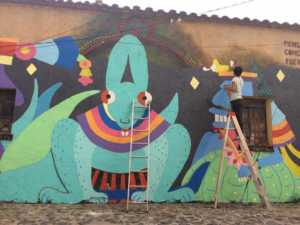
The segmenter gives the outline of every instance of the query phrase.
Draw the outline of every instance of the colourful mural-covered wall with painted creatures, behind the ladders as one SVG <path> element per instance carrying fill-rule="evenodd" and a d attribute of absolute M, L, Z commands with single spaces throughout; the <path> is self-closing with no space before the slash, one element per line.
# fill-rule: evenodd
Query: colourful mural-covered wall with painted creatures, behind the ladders
<path fill-rule="evenodd" d="M 37 11 L 46 13 L 42 7 Z M 25 31 L 12 36 L 9 24 L 2 29 L 0 88 L 16 89 L 16 99 L 13 139 L 0 142 L 0 201 L 126 202 L 128 179 L 147 185 L 147 173 L 128 176 L 133 99 L 140 106 L 150 100 L 152 107 L 149 200 L 213 201 L 223 139 L 213 128 L 225 126 L 229 95 L 222 87 L 230 83 L 233 61 L 239 58 L 242 95 L 271 100 L 273 151 L 251 152 L 268 197 L 271 202 L 299 197 L 299 67 L 291 70 L 285 61 L 277 62 L 281 52 L 272 54 L 288 42 L 269 47 L 276 49 L 263 56 L 258 54 L 263 47 L 208 51 L 179 47 L 200 46 L 191 30 L 205 23 L 154 25 L 151 18 L 114 13 L 91 13 L 85 20 L 111 23 L 91 23 L 37 42 L 34 34 L 23 40 Z M 251 29 L 257 37 L 268 30 Z M 291 38 L 289 30 L 276 32 L 282 43 Z M 210 37 L 211 46 L 217 37 L 220 43 L 228 40 Z M 135 116 L 147 118 L 148 110 L 140 108 Z M 137 121 L 133 128 L 148 129 L 148 121 Z M 133 141 L 146 139 L 147 133 L 133 135 Z M 221 201 L 239 201 L 246 187 L 249 172 L 237 145 L 227 144 L 236 152 L 225 155 Z M 134 155 L 147 154 L 148 148 L 140 146 L 133 146 Z M 133 170 L 146 168 L 146 159 L 132 160 Z M 130 189 L 132 200 L 145 201 L 145 190 Z M 252 182 L 242 201 L 260 201 Z"/>

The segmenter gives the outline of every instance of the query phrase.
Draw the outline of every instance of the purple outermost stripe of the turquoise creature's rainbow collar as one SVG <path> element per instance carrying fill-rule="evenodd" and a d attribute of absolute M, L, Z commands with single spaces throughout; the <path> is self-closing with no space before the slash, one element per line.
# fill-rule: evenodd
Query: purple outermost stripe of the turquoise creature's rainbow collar
<path fill-rule="evenodd" d="M 90 126 L 88 125 L 88 121 L 85 116 L 85 113 L 78 115 L 77 119 L 85 135 L 95 145 L 116 153 L 125 153 L 130 151 L 130 143 L 120 144 L 120 143 L 109 142 L 107 140 L 104 140 L 103 138 L 100 138 L 97 134 L 95 134 L 90 128 Z M 170 123 L 164 120 L 153 132 L 151 132 L 150 143 L 155 141 L 159 136 L 161 136 L 168 129 L 169 126 Z M 148 136 L 138 140 L 138 142 L 148 143 Z M 144 147 L 145 147 L 144 145 L 133 145 L 132 150 L 135 151 Z"/>

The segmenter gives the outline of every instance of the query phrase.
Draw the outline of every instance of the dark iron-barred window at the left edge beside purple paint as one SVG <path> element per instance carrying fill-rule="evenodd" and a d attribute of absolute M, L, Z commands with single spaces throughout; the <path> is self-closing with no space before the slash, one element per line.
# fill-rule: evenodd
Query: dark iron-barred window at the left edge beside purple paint
<path fill-rule="evenodd" d="M 0 89 L 0 139 L 12 140 L 12 119 L 16 89 Z"/>

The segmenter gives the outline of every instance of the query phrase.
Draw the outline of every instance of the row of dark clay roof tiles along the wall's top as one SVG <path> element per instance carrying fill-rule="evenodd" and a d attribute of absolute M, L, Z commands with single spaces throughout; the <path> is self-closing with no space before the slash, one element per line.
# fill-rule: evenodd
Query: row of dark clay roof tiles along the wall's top
<path fill-rule="evenodd" d="M 98 3 L 85 2 L 73 2 L 72 0 L 0 0 L 0 3 L 11 3 L 11 4 L 24 4 L 24 5 L 34 5 L 34 6 L 45 6 L 45 7 L 55 7 L 55 8 L 68 8 L 74 10 L 88 10 L 88 11 L 98 11 L 98 12 L 111 12 L 111 13 L 124 13 L 131 15 L 143 15 L 148 17 L 155 17 L 156 19 L 177 19 L 179 16 L 184 20 L 197 21 L 197 22 L 212 22 L 212 23 L 226 23 L 241 26 L 254 26 L 254 27 L 264 27 L 264 28 L 275 28 L 275 29 L 285 29 L 285 30 L 295 30 L 300 31 L 300 25 L 297 23 L 289 24 L 288 22 L 278 23 L 270 22 L 269 20 L 259 21 L 257 19 L 250 20 L 245 17 L 243 19 L 239 18 L 229 18 L 227 16 L 218 17 L 217 15 L 212 15 L 208 17 L 205 14 L 198 16 L 196 13 L 190 13 L 187 15 L 186 12 L 177 13 L 175 10 L 170 10 L 165 12 L 161 9 L 158 11 L 153 11 L 152 8 L 148 7 L 142 10 L 139 6 L 133 6 L 131 9 L 128 6 L 120 8 L 117 4 L 109 6 L 107 4 L 99 1 Z"/>

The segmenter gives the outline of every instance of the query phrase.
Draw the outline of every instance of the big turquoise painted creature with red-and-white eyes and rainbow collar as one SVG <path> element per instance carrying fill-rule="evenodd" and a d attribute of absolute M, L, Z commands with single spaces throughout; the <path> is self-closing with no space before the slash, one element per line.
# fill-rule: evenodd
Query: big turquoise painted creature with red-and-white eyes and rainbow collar
<path fill-rule="evenodd" d="M 0 161 L 2 171 L 0 182 L 4 185 L 0 187 L 0 200 L 37 202 L 39 199 L 43 203 L 77 203 L 82 200 L 94 203 L 108 202 L 108 196 L 104 192 L 93 190 L 91 168 L 109 173 L 128 173 L 132 101 L 135 99 L 136 104 L 146 105 L 152 100 L 150 93 L 147 92 L 148 66 L 143 45 L 132 35 L 125 35 L 119 42 L 113 47 L 109 57 L 107 90 L 101 94 L 103 104 L 79 115 L 78 122 L 67 117 L 58 122 L 53 120 L 51 124 L 55 126 L 51 128 L 51 138 L 44 142 L 40 142 L 37 138 L 35 143 L 31 143 L 32 146 L 40 148 L 45 147 L 45 142 L 49 145 L 43 154 L 31 156 L 29 153 L 31 164 L 21 163 L 21 168 L 7 168 L 5 160 L 9 161 L 9 157 L 4 157 L 3 154 L 2 159 L 5 160 L 2 163 Z M 134 83 L 121 83 L 128 62 Z M 187 130 L 182 125 L 174 123 L 177 113 L 177 93 L 169 106 L 159 115 L 154 111 L 150 113 L 150 201 L 195 200 L 194 191 L 188 185 L 170 189 L 182 170 L 191 148 Z M 44 114 L 32 123 L 38 120 L 39 123 L 47 125 Z M 135 111 L 135 116 L 146 118 L 148 110 L 140 108 Z M 134 128 L 147 129 L 147 126 L 138 120 L 134 123 Z M 25 137 L 22 133 L 20 136 Z M 30 142 L 31 136 L 28 133 L 27 135 L 27 142 Z M 144 135 L 147 133 L 134 133 L 133 139 L 143 142 Z M 133 155 L 145 156 L 147 149 L 138 145 L 133 148 Z M 145 168 L 147 168 L 146 159 L 132 160 L 133 170 Z M 21 179 L 22 177 L 26 177 L 26 181 Z M 145 201 L 146 192 L 133 192 L 131 198 L 133 201 Z"/>

